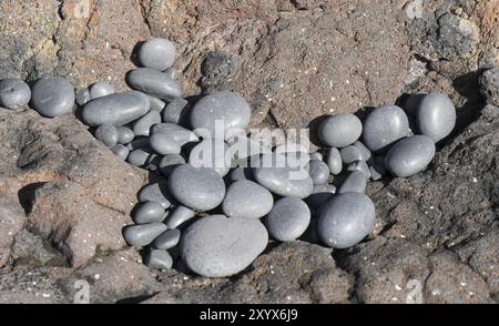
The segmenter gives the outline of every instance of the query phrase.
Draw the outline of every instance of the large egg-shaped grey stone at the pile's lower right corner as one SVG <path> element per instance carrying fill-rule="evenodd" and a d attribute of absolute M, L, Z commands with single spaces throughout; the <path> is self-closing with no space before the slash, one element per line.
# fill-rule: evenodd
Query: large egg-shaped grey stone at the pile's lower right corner
<path fill-rule="evenodd" d="M 317 231 L 326 245 L 347 248 L 373 231 L 375 217 L 375 206 L 367 195 L 339 194 L 320 211 Z"/>

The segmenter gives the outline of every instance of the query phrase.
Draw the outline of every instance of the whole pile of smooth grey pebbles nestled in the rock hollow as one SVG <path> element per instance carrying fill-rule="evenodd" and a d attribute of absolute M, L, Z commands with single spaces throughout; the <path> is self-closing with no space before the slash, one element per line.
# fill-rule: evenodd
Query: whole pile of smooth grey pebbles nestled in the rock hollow
<path fill-rule="evenodd" d="M 246 134 L 251 109 L 241 95 L 217 92 L 195 103 L 183 99 L 169 40 L 149 40 L 136 55 L 141 68 L 126 75 L 130 91 L 116 93 L 106 81 L 74 90 L 59 77 L 31 86 L 6 79 L 0 105 L 30 104 L 55 118 L 73 112 L 77 103 L 75 114 L 99 141 L 156 176 L 138 194 L 135 224 L 123 228 L 126 243 L 143 248 L 152 268 L 175 265 L 207 277 L 234 275 L 265 251 L 269 238 L 350 247 L 374 228 L 368 181 L 425 170 L 436 143 L 456 124 L 447 95 L 415 94 L 404 109 L 378 106 L 363 121 L 350 113 L 324 118 L 314 131 L 323 147 L 312 153 L 301 146 L 253 146 Z M 217 122 L 225 132 L 217 133 Z M 248 146 L 247 155 L 228 150 L 236 142 Z M 217 144 L 222 151 L 211 151 Z M 214 159 L 222 153 L 222 164 L 198 166 L 206 153 Z M 284 164 L 262 164 L 279 160 Z M 296 171 L 302 162 L 305 169 Z"/>

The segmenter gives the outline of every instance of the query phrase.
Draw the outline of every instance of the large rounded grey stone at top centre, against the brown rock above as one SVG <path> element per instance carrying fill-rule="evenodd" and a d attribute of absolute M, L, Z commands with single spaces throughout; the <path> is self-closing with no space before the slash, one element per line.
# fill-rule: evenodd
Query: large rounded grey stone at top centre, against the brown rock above
<path fill-rule="evenodd" d="M 191 112 L 191 125 L 196 130 L 206 131 L 215 137 L 215 121 L 224 126 L 222 136 L 233 129 L 246 129 L 251 120 L 251 110 L 246 100 L 232 92 L 217 92 L 204 96 L 194 105 Z M 204 135 L 207 137 L 208 135 Z"/>

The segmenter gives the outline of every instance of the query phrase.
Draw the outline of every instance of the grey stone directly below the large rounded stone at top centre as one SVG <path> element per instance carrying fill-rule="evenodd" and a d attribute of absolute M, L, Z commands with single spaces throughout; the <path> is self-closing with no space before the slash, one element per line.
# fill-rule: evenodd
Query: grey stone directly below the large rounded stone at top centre
<path fill-rule="evenodd" d="M 221 176 L 225 176 L 232 166 L 228 145 L 220 139 L 207 139 L 192 149 L 189 164 L 194 167 L 213 169 Z"/>

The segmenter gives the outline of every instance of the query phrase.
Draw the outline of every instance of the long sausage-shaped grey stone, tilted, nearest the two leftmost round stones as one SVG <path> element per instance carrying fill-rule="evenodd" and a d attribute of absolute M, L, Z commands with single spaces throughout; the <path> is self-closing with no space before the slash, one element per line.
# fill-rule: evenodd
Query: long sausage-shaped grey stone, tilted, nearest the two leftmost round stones
<path fill-rule="evenodd" d="M 128 124 L 149 112 L 149 100 L 140 92 L 111 94 L 90 101 L 81 112 L 83 122 L 89 125 Z"/>

